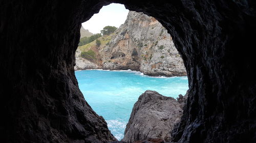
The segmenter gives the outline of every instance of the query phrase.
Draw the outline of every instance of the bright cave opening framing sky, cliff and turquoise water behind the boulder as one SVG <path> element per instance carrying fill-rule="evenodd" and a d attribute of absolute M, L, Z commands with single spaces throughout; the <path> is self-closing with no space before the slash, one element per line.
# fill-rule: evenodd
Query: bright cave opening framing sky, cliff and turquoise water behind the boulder
<path fill-rule="evenodd" d="M 80 33 L 75 70 L 86 71 L 75 72 L 79 88 L 117 139 L 146 90 L 174 98 L 186 94 L 181 56 L 154 17 L 110 4 L 82 23 Z"/>

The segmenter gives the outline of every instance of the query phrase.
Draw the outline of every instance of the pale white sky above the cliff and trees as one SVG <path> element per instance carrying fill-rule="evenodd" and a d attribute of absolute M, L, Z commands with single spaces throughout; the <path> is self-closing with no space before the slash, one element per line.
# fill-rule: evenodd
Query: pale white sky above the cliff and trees
<path fill-rule="evenodd" d="M 100 33 L 105 26 L 119 27 L 126 20 L 129 10 L 121 4 L 110 4 L 100 9 L 99 13 L 94 14 L 91 19 L 82 23 L 84 29 L 91 33 Z"/>

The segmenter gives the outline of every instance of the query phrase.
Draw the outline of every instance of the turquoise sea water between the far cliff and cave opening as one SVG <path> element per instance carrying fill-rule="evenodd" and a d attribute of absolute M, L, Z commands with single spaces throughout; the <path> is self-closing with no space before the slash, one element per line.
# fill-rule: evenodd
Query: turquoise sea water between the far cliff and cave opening
<path fill-rule="evenodd" d="M 146 90 L 177 98 L 185 95 L 188 80 L 183 77 L 151 77 L 126 71 L 76 71 L 78 85 L 91 107 L 103 116 L 111 133 L 122 139 L 133 105 Z"/>

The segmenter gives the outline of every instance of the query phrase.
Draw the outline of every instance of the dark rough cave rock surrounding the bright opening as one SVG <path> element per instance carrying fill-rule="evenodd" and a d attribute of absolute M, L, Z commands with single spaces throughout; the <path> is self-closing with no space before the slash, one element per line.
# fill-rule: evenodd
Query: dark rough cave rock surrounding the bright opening
<path fill-rule="evenodd" d="M 256 142 L 250 0 L 2 2 L 2 142 L 115 140 L 74 74 L 81 23 L 111 3 L 155 17 L 182 56 L 189 91 L 174 142 Z"/>

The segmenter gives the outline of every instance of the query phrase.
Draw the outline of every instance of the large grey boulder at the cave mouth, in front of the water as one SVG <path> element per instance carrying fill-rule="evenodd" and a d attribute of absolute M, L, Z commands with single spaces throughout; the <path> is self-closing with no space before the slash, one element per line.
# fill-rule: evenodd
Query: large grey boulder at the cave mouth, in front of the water
<path fill-rule="evenodd" d="M 170 131 L 180 121 L 186 98 L 179 95 L 176 100 L 155 91 L 146 91 L 134 104 L 122 140 L 128 143 L 144 138 L 170 141 Z"/>

